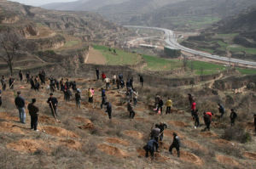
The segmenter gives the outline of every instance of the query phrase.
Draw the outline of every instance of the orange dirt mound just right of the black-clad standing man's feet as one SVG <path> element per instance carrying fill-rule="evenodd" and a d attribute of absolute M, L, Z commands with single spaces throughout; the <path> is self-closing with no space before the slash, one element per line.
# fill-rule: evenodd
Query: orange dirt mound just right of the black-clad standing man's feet
<path fill-rule="evenodd" d="M 64 128 L 61 127 L 43 127 L 45 132 L 53 135 L 53 136 L 58 136 L 58 137 L 70 137 L 70 138 L 79 138 L 77 134 L 71 131 L 67 131 Z"/>

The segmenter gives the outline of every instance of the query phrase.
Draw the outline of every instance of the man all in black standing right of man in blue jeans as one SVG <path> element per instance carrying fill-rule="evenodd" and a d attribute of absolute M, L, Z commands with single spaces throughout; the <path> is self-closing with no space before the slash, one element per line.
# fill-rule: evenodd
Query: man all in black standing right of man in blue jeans
<path fill-rule="evenodd" d="M 31 129 L 34 129 L 38 132 L 38 107 L 34 104 L 36 103 L 36 99 L 32 99 L 32 103 L 28 104 L 27 109 L 29 111 L 29 115 L 31 116 Z"/>

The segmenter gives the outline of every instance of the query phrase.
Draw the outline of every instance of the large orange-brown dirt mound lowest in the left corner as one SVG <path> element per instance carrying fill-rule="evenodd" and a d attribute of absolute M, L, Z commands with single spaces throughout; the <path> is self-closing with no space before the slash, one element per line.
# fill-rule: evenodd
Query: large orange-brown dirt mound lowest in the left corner
<path fill-rule="evenodd" d="M 49 152 L 49 147 L 42 140 L 20 139 L 16 143 L 7 144 L 8 149 L 14 149 L 19 152 L 33 153 L 37 150 Z"/>

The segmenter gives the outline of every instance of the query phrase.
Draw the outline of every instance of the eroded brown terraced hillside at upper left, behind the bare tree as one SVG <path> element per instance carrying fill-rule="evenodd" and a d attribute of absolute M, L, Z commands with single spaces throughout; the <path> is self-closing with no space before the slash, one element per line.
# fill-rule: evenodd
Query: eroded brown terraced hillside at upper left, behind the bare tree
<path fill-rule="evenodd" d="M 22 38 L 23 51 L 15 60 L 15 70 L 56 63 L 74 65 L 65 63 L 64 59 L 69 58 L 83 63 L 90 43 L 118 45 L 125 32 L 99 14 L 53 11 L 1 0 L 0 33 L 8 29 Z M 0 65 L 1 71 L 6 73 L 5 63 Z"/>

